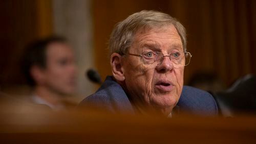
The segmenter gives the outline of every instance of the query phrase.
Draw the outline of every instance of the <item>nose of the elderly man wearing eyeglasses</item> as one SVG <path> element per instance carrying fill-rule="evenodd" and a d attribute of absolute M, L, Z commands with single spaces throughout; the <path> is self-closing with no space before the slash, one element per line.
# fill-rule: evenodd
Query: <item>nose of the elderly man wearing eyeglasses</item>
<path fill-rule="evenodd" d="M 167 71 L 170 71 L 174 68 L 173 62 L 170 61 L 170 57 L 169 56 L 164 56 L 162 62 L 160 62 L 159 65 L 157 65 L 157 70 L 165 73 Z"/>

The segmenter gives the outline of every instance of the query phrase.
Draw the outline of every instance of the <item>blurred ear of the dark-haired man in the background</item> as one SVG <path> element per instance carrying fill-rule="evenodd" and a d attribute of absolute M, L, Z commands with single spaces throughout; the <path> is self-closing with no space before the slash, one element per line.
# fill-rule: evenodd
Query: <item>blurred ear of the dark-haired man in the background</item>
<path fill-rule="evenodd" d="M 36 84 L 42 85 L 45 83 L 44 69 L 37 65 L 33 65 L 30 69 L 30 75 Z"/>

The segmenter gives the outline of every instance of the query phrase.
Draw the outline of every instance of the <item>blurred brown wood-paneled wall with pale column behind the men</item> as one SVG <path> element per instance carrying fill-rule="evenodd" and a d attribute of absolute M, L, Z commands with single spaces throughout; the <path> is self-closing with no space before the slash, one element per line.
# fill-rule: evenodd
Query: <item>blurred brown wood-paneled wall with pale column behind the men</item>
<path fill-rule="evenodd" d="M 78 81 L 82 81 L 78 93 L 92 93 L 97 86 L 84 80 L 84 71 L 94 67 L 102 79 L 111 75 L 106 50 L 109 35 L 115 23 L 144 9 L 168 13 L 185 26 L 187 51 L 193 55 L 185 67 L 185 84 L 199 71 L 215 74 L 224 87 L 246 74 L 256 74 L 253 0 L 6 0 L 0 2 L 1 89 L 25 84 L 19 57 L 28 42 L 60 34 L 75 47 Z"/>

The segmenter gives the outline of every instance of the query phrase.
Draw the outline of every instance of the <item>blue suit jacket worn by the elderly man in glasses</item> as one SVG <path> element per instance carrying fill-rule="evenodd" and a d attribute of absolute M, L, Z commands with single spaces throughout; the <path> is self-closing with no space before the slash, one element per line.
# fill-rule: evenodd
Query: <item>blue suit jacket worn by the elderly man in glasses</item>
<path fill-rule="evenodd" d="M 107 77 L 101 87 L 94 94 L 84 99 L 78 107 L 84 106 L 104 108 L 113 112 L 135 113 L 137 111 L 123 88 L 112 77 Z M 210 93 L 189 86 L 183 86 L 177 106 L 179 107 L 179 113 L 218 114 L 216 101 Z"/>

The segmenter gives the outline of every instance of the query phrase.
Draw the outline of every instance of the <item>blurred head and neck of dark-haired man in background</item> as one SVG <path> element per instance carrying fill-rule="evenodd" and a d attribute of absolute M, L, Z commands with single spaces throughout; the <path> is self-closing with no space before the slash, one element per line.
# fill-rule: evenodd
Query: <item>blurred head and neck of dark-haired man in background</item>
<path fill-rule="evenodd" d="M 75 105 L 64 97 L 74 93 L 76 87 L 74 53 L 65 38 L 49 37 L 31 43 L 22 70 L 33 89 L 31 102 L 54 110 Z"/>

